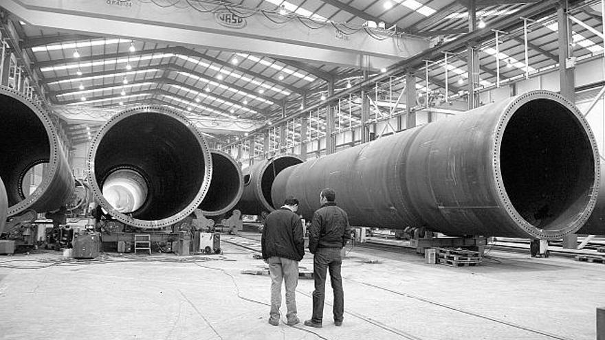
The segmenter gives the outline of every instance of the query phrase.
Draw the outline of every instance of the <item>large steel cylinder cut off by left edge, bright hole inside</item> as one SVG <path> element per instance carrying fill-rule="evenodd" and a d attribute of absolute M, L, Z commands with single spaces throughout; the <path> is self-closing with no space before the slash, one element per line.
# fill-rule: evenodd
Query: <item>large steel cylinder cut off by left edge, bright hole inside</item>
<path fill-rule="evenodd" d="M 0 178 L 8 196 L 8 216 L 25 209 L 58 209 L 72 196 L 74 177 L 50 116 L 39 104 L 8 87 L 0 87 L 0 108 Z M 25 184 L 30 183 L 36 166 L 43 173 L 34 189 Z"/>

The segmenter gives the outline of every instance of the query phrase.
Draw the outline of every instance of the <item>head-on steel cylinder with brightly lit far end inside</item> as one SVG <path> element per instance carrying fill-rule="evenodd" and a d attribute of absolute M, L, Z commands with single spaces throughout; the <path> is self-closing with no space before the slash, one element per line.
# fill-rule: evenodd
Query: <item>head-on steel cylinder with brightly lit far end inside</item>
<path fill-rule="evenodd" d="M 111 216 L 144 229 L 196 209 L 212 176 L 210 149 L 184 115 L 140 106 L 111 117 L 87 157 L 94 198 Z"/>

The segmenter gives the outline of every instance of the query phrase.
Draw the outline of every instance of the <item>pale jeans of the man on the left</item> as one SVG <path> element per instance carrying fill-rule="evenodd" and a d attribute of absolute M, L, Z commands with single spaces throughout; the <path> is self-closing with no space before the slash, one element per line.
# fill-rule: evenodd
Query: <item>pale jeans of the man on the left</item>
<path fill-rule="evenodd" d="M 281 306 L 281 282 L 286 286 L 286 307 L 288 320 L 296 317 L 296 286 L 298 285 L 298 261 L 272 256 L 267 260 L 271 274 L 271 319 L 279 320 Z"/>

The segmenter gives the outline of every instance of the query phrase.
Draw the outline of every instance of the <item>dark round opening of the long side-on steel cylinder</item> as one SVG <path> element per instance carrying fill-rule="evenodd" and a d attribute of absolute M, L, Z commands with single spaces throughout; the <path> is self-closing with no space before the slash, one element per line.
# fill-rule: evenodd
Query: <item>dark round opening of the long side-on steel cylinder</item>
<path fill-rule="evenodd" d="M 503 133 L 500 169 L 514 209 L 544 231 L 572 225 L 591 199 L 591 141 L 570 109 L 554 100 L 531 100 L 514 112 Z"/>

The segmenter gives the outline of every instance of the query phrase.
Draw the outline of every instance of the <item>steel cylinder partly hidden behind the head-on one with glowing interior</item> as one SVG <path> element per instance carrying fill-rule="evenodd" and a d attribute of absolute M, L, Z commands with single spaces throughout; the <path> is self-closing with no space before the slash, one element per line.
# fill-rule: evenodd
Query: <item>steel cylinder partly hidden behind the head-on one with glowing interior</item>
<path fill-rule="evenodd" d="M 239 164 L 221 150 L 210 150 L 212 181 L 199 208 L 205 216 L 220 216 L 232 209 L 243 192 L 243 176 Z"/>

